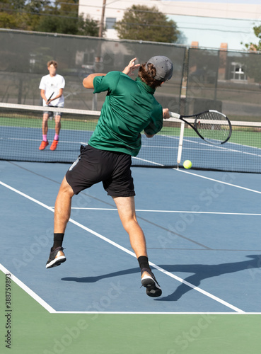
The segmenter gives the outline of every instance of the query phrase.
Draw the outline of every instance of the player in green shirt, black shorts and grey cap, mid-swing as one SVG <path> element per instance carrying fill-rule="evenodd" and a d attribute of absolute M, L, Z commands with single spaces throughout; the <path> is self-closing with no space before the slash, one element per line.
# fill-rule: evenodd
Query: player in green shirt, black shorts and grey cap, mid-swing
<path fill-rule="evenodd" d="M 141 132 L 153 137 L 170 118 L 153 96 L 156 88 L 171 78 L 173 64 L 168 57 L 156 56 L 145 64 L 132 59 L 123 72 L 91 74 L 83 80 L 94 93 L 107 91 L 98 124 L 81 155 L 67 171 L 54 208 L 54 244 L 46 268 L 60 265 L 66 258 L 62 242 L 71 212 L 71 198 L 91 185 L 103 182 L 103 188 L 117 206 L 124 229 L 141 268 L 141 285 L 150 297 L 161 296 L 161 287 L 149 267 L 146 239 L 137 222 L 134 183 L 130 166 L 132 156 L 141 148 Z M 129 76 L 139 67 L 138 78 Z"/>

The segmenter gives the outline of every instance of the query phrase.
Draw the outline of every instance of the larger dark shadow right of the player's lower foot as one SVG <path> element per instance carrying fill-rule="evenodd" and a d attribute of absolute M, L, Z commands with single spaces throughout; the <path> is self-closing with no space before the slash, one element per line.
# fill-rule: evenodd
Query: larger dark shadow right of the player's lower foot
<path fill-rule="evenodd" d="M 219 275 L 228 274 L 228 273 L 236 273 L 241 270 L 248 270 L 249 276 L 251 278 L 255 278 L 257 273 L 257 268 L 261 268 L 261 255 L 250 255 L 247 256 L 250 261 L 243 262 L 233 262 L 233 263 L 222 263 L 216 265 L 206 265 L 206 264 L 188 264 L 188 265 L 160 265 L 161 268 L 168 270 L 170 273 L 194 273 L 189 275 L 184 280 L 189 282 L 190 284 L 199 287 L 202 280 L 207 278 L 218 277 Z M 258 270 L 260 273 L 261 270 Z M 178 301 L 180 297 L 185 295 L 187 292 L 192 290 L 192 287 L 182 283 L 175 289 L 175 291 L 166 296 L 159 297 L 157 301 Z"/>

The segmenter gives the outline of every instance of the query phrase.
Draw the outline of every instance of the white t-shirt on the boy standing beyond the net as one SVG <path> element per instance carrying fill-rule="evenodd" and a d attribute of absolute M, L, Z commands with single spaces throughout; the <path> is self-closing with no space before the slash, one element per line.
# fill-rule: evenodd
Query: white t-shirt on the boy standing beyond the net
<path fill-rule="evenodd" d="M 42 76 L 42 79 L 40 81 L 40 90 L 45 90 L 45 96 L 46 98 L 50 98 L 52 93 L 52 98 L 57 96 L 59 93 L 59 89 L 64 89 L 65 86 L 65 81 L 62 75 L 56 74 L 55 76 L 50 76 L 50 74 Z M 47 104 L 45 103 L 45 100 L 42 100 L 42 105 L 45 107 Z M 51 106 L 56 105 L 57 107 L 64 107 L 64 95 L 61 97 L 57 98 L 56 100 L 52 101 L 50 103 Z"/>

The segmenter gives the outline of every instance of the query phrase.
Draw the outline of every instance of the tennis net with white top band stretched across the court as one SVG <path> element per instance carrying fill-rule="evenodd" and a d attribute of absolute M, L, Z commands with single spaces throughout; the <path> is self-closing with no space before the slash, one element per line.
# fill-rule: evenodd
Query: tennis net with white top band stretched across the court
<path fill-rule="evenodd" d="M 42 114 L 46 110 L 62 113 L 62 129 L 55 151 L 48 146 L 40 151 Z M 81 145 L 88 144 L 100 116 L 99 111 L 45 108 L 33 105 L 0 103 L 0 159 L 11 161 L 72 163 Z M 192 169 L 261 173 L 261 122 L 232 121 L 228 142 L 212 146 L 185 125 L 182 161 L 192 161 Z M 48 122 L 47 138 L 54 138 L 54 119 Z M 139 155 L 133 166 L 177 167 L 180 121 L 165 120 L 163 129 L 152 139 L 142 134 Z"/>

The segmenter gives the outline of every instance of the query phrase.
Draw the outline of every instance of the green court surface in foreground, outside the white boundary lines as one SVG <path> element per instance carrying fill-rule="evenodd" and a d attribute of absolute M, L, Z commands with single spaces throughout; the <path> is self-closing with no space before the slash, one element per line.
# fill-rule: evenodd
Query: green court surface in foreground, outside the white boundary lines
<path fill-rule="evenodd" d="M 0 353 L 260 353 L 260 314 L 50 314 L 13 281 L 6 348 L 2 272 L 0 282 Z"/>

